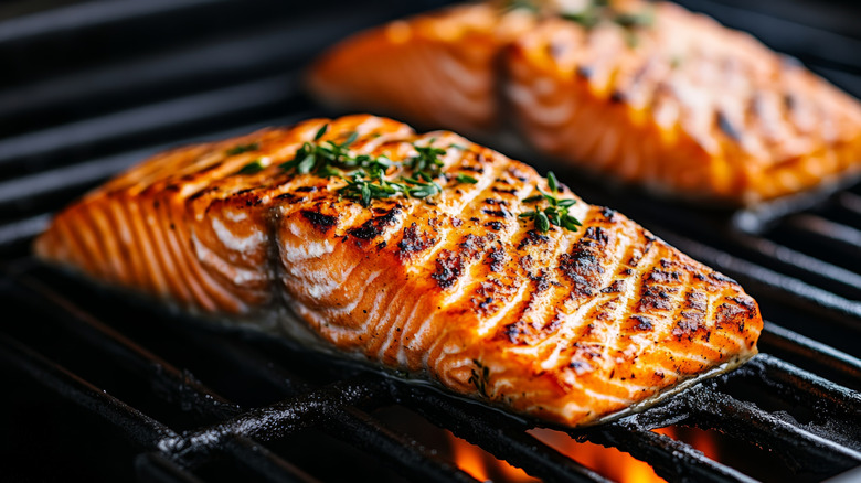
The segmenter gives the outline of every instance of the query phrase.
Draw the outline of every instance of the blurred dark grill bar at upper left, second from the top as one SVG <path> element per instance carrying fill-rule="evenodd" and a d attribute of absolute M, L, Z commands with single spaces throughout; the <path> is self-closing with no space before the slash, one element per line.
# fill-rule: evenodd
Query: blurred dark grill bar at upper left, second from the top
<path fill-rule="evenodd" d="M 171 49 L 145 57 L 131 57 L 104 67 L 51 76 L 0 92 L 0 127 L 18 132 L 26 126 L 44 126 L 39 117 L 57 118 L 64 108 L 87 105 L 91 111 L 117 109 L 134 103 L 129 92 L 149 97 L 153 93 L 181 94 L 201 90 L 249 72 L 268 75 L 275 66 L 298 66 L 309 52 L 320 50 L 326 39 L 380 21 L 380 13 L 351 6 L 343 17 L 323 25 L 287 19 L 252 36 L 231 35 L 216 42 Z M 308 42 L 311 42 L 310 44 Z M 201 85 L 202 84 L 202 85 Z"/>

